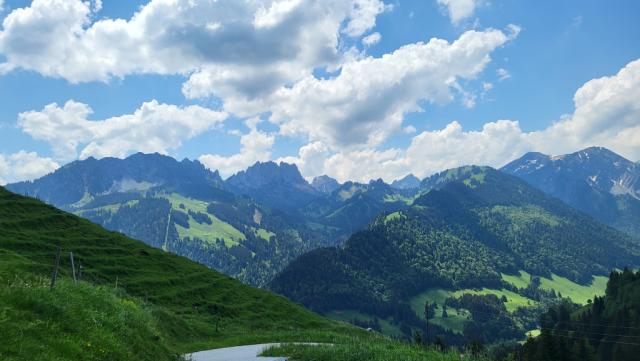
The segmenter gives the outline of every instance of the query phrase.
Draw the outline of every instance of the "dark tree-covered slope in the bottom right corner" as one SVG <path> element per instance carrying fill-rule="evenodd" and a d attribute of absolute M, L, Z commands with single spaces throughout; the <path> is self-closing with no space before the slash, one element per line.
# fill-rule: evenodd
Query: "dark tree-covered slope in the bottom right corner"
<path fill-rule="evenodd" d="M 640 272 L 612 272 L 606 294 L 563 302 L 540 317 L 541 334 L 516 348 L 527 361 L 627 361 L 640 355 Z"/>

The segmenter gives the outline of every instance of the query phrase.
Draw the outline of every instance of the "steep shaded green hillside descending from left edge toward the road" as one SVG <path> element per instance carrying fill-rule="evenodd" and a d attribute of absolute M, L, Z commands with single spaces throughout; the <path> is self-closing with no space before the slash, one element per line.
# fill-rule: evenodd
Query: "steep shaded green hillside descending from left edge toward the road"
<path fill-rule="evenodd" d="M 124 306 L 120 304 L 129 302 L 123 300 L 133 300 L 135 307 L 144 304 L 143 310 L 131 314 L 141 320 L 148 334 L 158 330 L 166 348 L 172 351 L 257 341 L 331 339 L 336 332 L 353 330 L 313 314 L 284 297 L 243 285 L 186 258 L 105 231 L 89 221 L 3 188 L 0 188 L 0 229 L 3 284 L 27 284 L 30 280 L 48 277 L 56 246 L 64 250 L 60 262 L 63 280 L 70 278 L 69 251 L 74 253 L 76 264 L 84 267 L 83 279 L 88 285 L 74 286 L 63 281 L 60 288 L 50 294 L 50 302 L 42 297 L 47 294 L 42 281 L 34 284 L 33 289 L 16 286 L 3 290 L 0 315 L 24 312 L 31 315 L 35 324 L 44 322 L 45 330 L 46 327 L 65 330 L 75 327 L 61 319 L 48 318 L 50 309 L 59 306 L 63 315 L 73 310 L 71 305 L 84 308 L 85 303 L 90 305 L 98 298 L 105 299 L 104 305 L 96 304 L 100 312 L 112 309 L 115 314 L 122 311 Z M 126 297 L 110 295 L 108 289 L 115 288 L 116 282 Z M 24 295 L 22 301 L 20 294 Z M 34 301 L 30 303 L 29 299 Z M 44 303 L 40 306 L 36 301 Z M 91 312 L 91 306 L 87 307 L 83 312 Z M 8 322 L 16 321 L 11 319 Z M 100 320 L 99 317 L 92 319 Z M 0 322 L 7 321 L 0 317 Z M 114 330 L 120 329 L 118 325 L 114 323 Z M 84 335 L 84 326 L 78 327 L 76 333 Z M 44 331 L 24 335 L 29 337 L 21 336 L 18 343 L 53 337 Z M 73 338 L 70 340 L 74 342 Z M 72 353 L 66 355 L 73 358 Z M 98 357 L 98 353 L 93 355 L 96 359 L 108 359 Z"/>

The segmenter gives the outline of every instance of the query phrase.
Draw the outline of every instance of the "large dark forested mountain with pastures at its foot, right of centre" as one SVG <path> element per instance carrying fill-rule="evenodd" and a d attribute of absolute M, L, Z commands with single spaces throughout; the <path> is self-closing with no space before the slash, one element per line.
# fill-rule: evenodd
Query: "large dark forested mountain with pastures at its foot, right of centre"
<path fill-rule="evenodd" d="M 432 332 L 494 342 L 523 337 L 542 303 L 557 301 L 541 277 L 589 285 L 592 275 L 640 264 L 637 241 L 517 177 L 463 167 L 427 183 L 409 208 L 378 217 L 341 247 L 300 256 L 271 288 L 319 312 L 378 317 L 406 336 L 424 327 L 425 300 L 437 302 Z M 468 311 L 454 313 L 460 308 Z"/>

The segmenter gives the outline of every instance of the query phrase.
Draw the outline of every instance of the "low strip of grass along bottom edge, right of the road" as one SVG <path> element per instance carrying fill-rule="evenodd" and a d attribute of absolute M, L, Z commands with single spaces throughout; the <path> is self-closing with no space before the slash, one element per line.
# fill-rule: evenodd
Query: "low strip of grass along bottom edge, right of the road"
<path fill-rule="evenodd" d="M 288 357 L 291 361 L 462 361 L 483 357 L 425 349 L 379 336 L 351 338 L 322 345 L 284 344 L 266 349 L 262 356 Z"/>

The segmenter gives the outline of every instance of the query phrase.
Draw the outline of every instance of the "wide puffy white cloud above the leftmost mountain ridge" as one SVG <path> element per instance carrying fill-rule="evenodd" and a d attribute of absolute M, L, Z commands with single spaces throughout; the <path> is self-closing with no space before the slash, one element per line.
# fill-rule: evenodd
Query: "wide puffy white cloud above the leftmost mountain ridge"
<path fill-rule="evenodd" d="M 73 100 L 41 111 L 18 115 L 18 126 L 34 139 L 45 140 L 60 160 L 89 156 L 124 157 L 134 151 L 167 153 L 182 141 L 210 130 L 226 114 L 199 106 L 177 107 L 155 100 L 143 103 L 133 114 L 92 121 L 92 109 Z"/>

